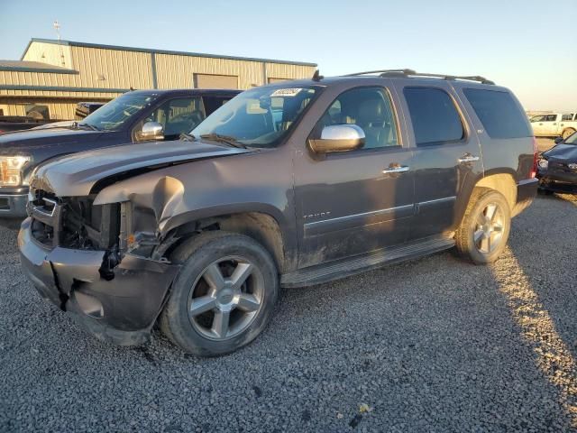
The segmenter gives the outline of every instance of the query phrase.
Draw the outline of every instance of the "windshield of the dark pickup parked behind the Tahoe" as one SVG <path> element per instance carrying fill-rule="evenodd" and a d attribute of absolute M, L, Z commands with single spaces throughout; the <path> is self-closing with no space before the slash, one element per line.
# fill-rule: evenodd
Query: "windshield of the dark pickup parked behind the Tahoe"
<path fill-rule="evenodd" d="M 91 115 L 78 124 L 87 124 L 101 131 L 115 131 L 120 129 L 142 108 L 149 106 L 158 95 L 134 95 L 126 93 L 101 106 Z"/>

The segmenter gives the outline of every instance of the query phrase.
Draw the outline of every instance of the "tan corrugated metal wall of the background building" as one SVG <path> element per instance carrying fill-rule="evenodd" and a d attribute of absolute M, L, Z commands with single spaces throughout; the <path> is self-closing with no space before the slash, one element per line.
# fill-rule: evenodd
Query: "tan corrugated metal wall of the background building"
<path fill-rule="evenodd" d="M 0 104 L 5 105 L 14 97 L 14 101 L 19 100 L 17 97 L 33 97 L 26 101 L 34 103 L 55 97 L 59 101 L 54 102 L 50 114 L 58 113 L 59 118 L 72 118 L 73 106 L 78 101 L 110 100 L 131 87 L 153 88 L 153 63 L 156 64 L 157 87 L 162 89 L 194 88 L 195 73 L 234 76 L 238 78 L 238 88 L 246 89 L 267 84 L 268 78 L 309 78 L 315 71 L 313 66 L 290 63 L 95 48 L 76 46 L 74 42 L 67 45 L 32 41 L 23 60 L 64 66 L 78 73 L 0 70 L 0 85 L 44 88 L 0 89 Z M 14 102 L 10 112 L 20 112 L 22 107 L 17 104 L 20 103 Z"/>

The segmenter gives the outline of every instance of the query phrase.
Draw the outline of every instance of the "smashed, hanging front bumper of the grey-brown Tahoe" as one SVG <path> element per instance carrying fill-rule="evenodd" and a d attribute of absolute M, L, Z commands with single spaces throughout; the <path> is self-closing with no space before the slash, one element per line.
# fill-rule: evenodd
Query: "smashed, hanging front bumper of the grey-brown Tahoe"
<path fill-rule="evenodd" d="M 105 251 L 47 248 L 37 243 L 24 220 L 18 234 L 23 270 L 50 299 L 97 338 L 116 345 L 148 340 L 179 265 L 126 254 L 114 278 L 100 274 Z"/>

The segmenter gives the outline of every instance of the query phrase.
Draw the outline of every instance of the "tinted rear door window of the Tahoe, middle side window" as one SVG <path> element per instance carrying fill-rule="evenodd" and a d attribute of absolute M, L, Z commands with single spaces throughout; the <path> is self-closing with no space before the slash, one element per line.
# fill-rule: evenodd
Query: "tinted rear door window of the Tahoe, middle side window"
<path fill-rule="evenodd" d="M 415 140 L 419 144 L 454 142 L 463 138 L 463 123 L 453 99 L 440 88 L 405 88 Z"/>

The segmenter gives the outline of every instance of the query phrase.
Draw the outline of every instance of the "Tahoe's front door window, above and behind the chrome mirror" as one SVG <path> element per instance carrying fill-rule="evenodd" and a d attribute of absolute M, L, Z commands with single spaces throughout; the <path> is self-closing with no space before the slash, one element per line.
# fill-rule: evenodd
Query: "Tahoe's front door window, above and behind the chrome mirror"
<path fill-rule="evenodd" d="M 353 88 L 343 92 L 325 111 L 313 134 L 320 136 L 323 128 L 335 124 L 360 126 L 365 135 L 362 149 L 398 146 L 395 114 L 383 88 Z"/>

